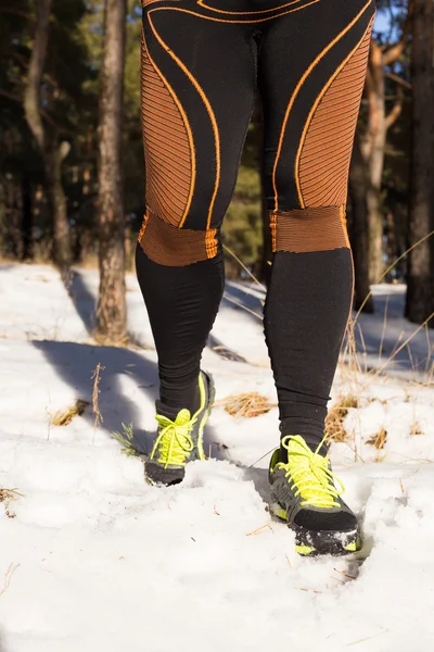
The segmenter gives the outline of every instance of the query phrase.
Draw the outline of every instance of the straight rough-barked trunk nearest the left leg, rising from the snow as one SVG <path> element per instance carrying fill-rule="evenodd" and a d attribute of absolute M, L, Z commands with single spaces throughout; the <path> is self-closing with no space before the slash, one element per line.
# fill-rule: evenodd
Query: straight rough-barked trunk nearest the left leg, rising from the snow
<path fill-rule="evenodd" d="M 120 160 L 126 13 L 126 0 L 105 0 L 99 126 L 100 293 L 97 336 L 114 343 L 122 343 L 127 337 Z"/>

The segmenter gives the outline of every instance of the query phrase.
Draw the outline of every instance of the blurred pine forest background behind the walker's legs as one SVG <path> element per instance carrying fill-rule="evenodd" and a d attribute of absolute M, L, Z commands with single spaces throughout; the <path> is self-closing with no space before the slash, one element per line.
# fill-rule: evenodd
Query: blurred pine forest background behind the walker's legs
<path fill-rule="evenodd" d="M 52 262 L 65 283 L 99 265 L 98 335 L 112 342 L 127 337 L 144 209 L 140 38 L 130 0 L 0 0 L 0 256 Z M 267 283 L 260 113 L 258 98 L 224 242 L 229 277 Z M 406 283 L 406 316 L 434 327 L 433 0 L 378 2 L 347 220 L 355 306 L 374 310 L 373 283 Z"/>

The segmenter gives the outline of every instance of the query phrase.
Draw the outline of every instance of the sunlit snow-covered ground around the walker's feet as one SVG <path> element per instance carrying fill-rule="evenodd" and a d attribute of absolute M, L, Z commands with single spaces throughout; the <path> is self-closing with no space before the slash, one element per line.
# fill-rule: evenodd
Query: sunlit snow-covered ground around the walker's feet
<path fill-rule="evenodd" d="M 363 523 L 346 559 L 302 559 L 266 511 L 277 410 L 234 418 L 215 409 L 212 459 L 186 481 L 143 481 L 112 432 L 133 423 L 149 450 L 156 366 L 136 279 L 128 277 L 138 346 L 98 347 L 98 277 L 79 271 L 69 292 L 47 266 L 0 266 L 0 652 L 431 652 L 434 649 L 434 387 L 430 334 L 401 317 L 404 289 L 374 288 L 362 316 L 359 374 L 341 366 L 332 401 L 356 397 L 334 471 Z M 204 354 L 217 399 L 258 391 L 275 401 L 261 335 L 263 293 L 228 284 Z M 240 309 L 243 303 L 251 312 Z M 386 310 L 387 309 L 387 310 Z M 386 318 L 384 313 L 386 312 Z M 383 334 L 384 331 L 384 334 Z M 432 337 L 432 336 L 431 336 Z M 361 342 L 365 342 L 362 346 Z M 92 402 L 65 427 L 53 415 Z M 379 450 L 369 440 L 381 436 Z"/>

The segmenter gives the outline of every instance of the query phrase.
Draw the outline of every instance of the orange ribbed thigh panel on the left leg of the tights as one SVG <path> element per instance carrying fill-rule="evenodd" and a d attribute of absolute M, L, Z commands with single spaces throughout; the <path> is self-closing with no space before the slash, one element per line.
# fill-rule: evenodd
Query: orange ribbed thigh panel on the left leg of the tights
<path fill-rule="evenodd" d="M 178 226 L 191 186 L 191 150 L 174 91 L 163 80 L 142 40 L 141 103 L 146 205 L 161 220 Z"/>

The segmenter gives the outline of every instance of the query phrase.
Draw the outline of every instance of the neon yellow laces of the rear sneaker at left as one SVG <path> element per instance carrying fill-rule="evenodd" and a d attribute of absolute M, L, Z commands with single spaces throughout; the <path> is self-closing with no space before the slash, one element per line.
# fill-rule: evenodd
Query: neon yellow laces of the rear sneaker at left
<path fill-rule="evenodd" d="M 184 466 L 187 457 L 194 448 L 190 431 L 196 419 L 191 418 L 189 410 L 181 410 L 175 422 L 161 414 L 155 418 L 161 431 L 155 439 L 151 460 L 158 452 L 157 462 L 164 464 L 165 468 L 169 465 Z"/>

